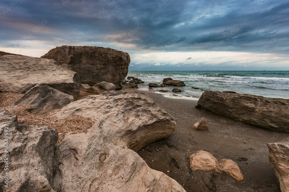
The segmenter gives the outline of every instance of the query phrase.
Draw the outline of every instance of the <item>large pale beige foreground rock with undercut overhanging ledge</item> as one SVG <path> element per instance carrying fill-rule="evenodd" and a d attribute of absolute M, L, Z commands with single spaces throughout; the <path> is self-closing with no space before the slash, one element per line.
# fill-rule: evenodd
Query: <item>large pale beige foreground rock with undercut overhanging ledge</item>
<path fill-rule="evenodd" d="M 108 92 L 109 93 L 109 92 Z M 144 93 L 93 95 L 56 114 L 90 117 L 87 132 L 69 135 L 55 150 L 55 191 L 181 191 L 134 151 L 170 136 L 175 119 Z"/>

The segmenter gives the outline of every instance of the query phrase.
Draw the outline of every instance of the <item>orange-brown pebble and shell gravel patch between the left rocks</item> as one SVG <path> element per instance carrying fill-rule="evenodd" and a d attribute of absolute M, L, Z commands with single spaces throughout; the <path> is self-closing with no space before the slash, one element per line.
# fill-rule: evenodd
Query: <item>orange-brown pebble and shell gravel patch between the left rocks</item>
<path fill-rule="evenodd" d="M 5 92 L 0 93 L 0 109 L 8 111 L 13 115 L 17 115 L 18 122 L 24 125 L 49 126 L 56 129 L 58 132 L 58 140 L 56 145 L 60 143 L 66 133 L 77 134 L 86 133 L 87 129 L 91 128 L 94 121 L 90 118 L 80 115 L 71 115 L 69 117 L 58 119 L 53 116 L 60 109 L 50 111 L 44 115 L 34 115 L 29 111 L 31 108 L 26 108 L 25 105 L 18 105 L 11 109 L 11 105 L 19 100 L 23 95 L 18 93 Z"/>

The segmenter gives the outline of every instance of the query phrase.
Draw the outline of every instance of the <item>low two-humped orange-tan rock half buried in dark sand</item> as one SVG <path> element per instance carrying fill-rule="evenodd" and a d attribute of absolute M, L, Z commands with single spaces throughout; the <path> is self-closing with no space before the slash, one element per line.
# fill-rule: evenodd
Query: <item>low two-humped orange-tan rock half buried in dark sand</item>
<path fill-rule="evenodd" d="M 244 181 L 244 175 L 238 164 L 231 159 L 222 159 L 218 161 L 211 153 L 207 151 L 196 151 L 190 155 L 190 168 L 192 170 L 215 170 L 224 171 L 240 182 Z"/>

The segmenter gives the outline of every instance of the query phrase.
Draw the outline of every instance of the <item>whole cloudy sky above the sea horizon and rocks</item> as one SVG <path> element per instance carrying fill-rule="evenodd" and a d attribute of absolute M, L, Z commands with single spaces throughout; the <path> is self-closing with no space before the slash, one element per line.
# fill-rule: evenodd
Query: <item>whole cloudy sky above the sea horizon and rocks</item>
<path fill-rule="evenodd" d="M 127 52 L 130 71 L 289 70 L 288 0 L 1 0 L 0 51 Z"/>

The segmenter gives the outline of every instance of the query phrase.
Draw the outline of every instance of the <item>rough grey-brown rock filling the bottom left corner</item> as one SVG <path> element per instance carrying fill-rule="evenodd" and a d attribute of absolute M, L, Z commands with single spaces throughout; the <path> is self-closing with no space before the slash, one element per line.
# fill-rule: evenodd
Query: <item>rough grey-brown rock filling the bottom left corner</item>
<path fill-rule="evenodd" d="M 6 191 L 5 172 L 8 172 L 9 191 L 53 190 L 54 148 L 58 138 L 55 129 L 44 126 L 27 126 L 18 123 L 17 117 L 0 110 L 0 140 L 4 144 L 4 125 L 9 127 L 9 153 L 0 145 L 0 191 Z M 6 129 L 7 130 L 7 129 Z M 5 156 L 9 154 L 10 156 Z M 4 170 L 8 157 L 9 170 Z M 6 160 L 5 160 L 6 161 Z"/>

